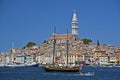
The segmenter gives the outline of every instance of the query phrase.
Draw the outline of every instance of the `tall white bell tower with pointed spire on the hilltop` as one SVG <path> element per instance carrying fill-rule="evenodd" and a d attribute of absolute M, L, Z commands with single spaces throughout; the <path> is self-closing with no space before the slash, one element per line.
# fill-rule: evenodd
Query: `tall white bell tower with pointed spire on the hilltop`
<path fill-rule="evenodd" d="M 74 11 L 72 17 L 72 34 L 78 35 L 78 19 L 77 19 L 76 11 Z"/>

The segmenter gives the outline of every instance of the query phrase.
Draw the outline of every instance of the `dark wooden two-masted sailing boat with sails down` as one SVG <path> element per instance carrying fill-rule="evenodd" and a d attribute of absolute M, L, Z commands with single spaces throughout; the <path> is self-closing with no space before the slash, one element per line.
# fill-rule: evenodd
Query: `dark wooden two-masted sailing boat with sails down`
<path fill-rule="evenodd" d="M 44 69 L 47 72 L 79 72 L 80 71 L 80 66 L 68 66 L 68 31 L 67 31 L 67 65 L 55 65 L 54 64 L 54 55 L 55 55 L 55 28 L 54 28 L 54 43 L 53 43 L 53 64 L 45 66 Z"/>

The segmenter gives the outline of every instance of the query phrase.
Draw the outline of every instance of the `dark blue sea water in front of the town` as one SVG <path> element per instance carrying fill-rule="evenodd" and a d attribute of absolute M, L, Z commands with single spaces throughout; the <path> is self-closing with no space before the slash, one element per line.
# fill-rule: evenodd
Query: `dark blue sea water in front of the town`
<path fill-rule="evenodd" d="M 94 75 L 85 76 L 79 72 L 45 72 L 41 67 L 0 67 L 0 80 L 120 80 L 120 68 L 83 68 L 83 73 L 87 72 L 94 72 Z"/>

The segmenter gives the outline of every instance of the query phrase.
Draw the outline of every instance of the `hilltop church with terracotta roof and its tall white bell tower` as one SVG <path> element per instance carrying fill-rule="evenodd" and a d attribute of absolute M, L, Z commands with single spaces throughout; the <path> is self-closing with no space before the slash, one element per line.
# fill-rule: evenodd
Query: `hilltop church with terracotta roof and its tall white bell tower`
<path fill-rule="evenodd" d="M 54 33 L 51 38 L 48 39 L 48 43 L 51 43 L 56 40 L 56 43 L 66 43 L 67 39 L 69 42 L 78 40 L 78 18 L 76 11 L 73 13 L 72 17 L 72 33 L 71 34 L 56 34 Z"/>

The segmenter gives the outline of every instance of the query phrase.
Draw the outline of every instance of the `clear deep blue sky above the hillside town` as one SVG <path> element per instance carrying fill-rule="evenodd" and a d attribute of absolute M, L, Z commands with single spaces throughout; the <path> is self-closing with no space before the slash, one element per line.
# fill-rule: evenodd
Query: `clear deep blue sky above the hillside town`
<path fill-rule="evenodd" d="M 80 39 L 120 46 L 120 0 L 0 0 L 0 52 L 71 33 L 74 10 Z"/>

